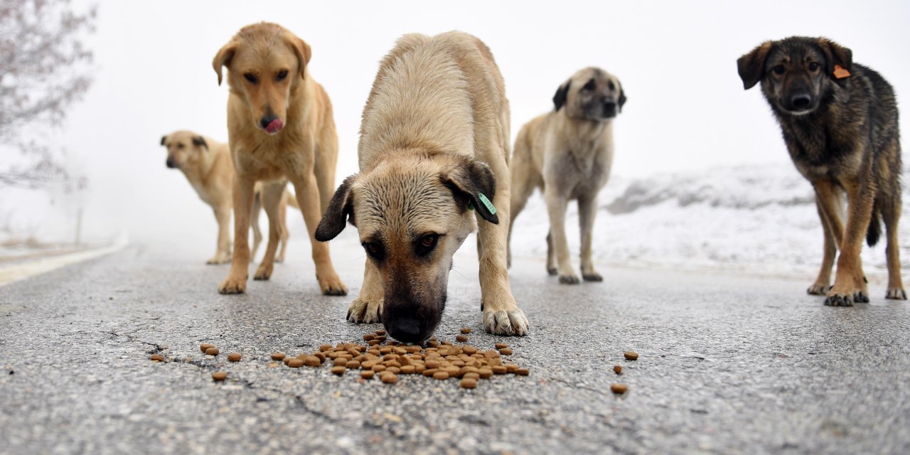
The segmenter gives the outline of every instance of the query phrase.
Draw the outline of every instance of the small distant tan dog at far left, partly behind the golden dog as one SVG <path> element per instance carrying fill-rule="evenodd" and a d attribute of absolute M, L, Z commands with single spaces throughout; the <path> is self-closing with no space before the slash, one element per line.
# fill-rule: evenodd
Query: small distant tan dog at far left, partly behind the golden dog
<path fill-rule="evenodd" d="M 231 187 L 234 184 L 234 166 L 230 163 L 230 150 L 227 144 L 217 142 L 210 137 L 200 136 L 192 131 L 175 131 L 161 136 L 161 145 L 167 147 L 167 167 L 177 168 L 187 177 L 189 184 L 203 202 L 212 207 L 218 222 L 218 244 L 215 256 L 207 264 L 226 264 L 231 260 L 230 248 L 230 213 L 233 207 Z M 256 185 L 256 196 L 253 203 L 252 222 L 253 252 L 256 257 L 262 233 L 259 230 L 259 213 L 261 185 Z M 289 191 L 285 192 L 279 209 L 281 249 L 275 262 L 283 262 L 288 249 L 288 223 L 286 212 L 288 205 L 297 208 L 297 201 Z"/>

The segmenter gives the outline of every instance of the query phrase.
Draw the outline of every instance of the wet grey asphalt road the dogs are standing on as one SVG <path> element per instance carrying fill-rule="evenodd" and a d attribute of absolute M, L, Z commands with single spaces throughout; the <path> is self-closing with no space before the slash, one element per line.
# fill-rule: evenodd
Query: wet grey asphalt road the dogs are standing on
<path fill-rule="evenodd" d="M 910 305 L 881 286 L 828 308 L 807 279 L 606 268 L 566 286 L 517 259 L 531 335 L 503 339 L 480 331 L 466 243 L 437 336 L 504 341 L 531 375 L 384 385 L 268 366 L 380 328 L 344 320 L 356 246 L 333 249 L 352 291 L 333 298 L 300 243 L 245 296 L 217 294 L 227 266 L 204 252 L 139 246 L 0 288 L 0 453 L 910 453 Z"/>

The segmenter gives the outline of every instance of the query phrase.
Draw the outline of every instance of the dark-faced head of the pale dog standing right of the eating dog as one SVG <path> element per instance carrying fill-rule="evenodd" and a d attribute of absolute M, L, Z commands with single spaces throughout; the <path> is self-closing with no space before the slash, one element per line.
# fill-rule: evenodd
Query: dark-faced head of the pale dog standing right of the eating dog
<path fill-rule="evenodd" d="M 616 76 L 601 68 L 587 67 L 571 76 L 553 96 L 553 106 L 567 116 L 602 122 L 622 112 L 625 90 Z"/>

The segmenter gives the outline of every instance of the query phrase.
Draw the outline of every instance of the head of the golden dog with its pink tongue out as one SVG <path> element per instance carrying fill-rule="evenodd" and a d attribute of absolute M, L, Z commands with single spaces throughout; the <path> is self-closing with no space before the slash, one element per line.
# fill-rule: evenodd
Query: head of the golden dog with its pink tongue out
<path fill-rule="evenodd" d="M 281 25 L 263 22 L 240 29 L 218 51 L 212 66 L 219 85 L 221 67 L 227 67 L 227 83 L 248 106 L 248 120 L 274 135 L 288 121 L 291 93 L 306 76 L 309 56 L 302 39 Z"/>

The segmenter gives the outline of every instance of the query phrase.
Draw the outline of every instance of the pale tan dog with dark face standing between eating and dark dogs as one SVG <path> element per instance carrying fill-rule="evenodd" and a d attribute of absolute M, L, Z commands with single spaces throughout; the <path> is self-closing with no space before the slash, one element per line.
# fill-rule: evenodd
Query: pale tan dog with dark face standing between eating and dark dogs
<path fill-rule="evenodd" d="M 547 272 L 560 283 L 576 284 L 566 241 L 566 206 L 578 200 L 581 225 L 581 278 L 602 281 L 591 260 L 597 193 L 607 184 L 613 162 L 612 119 L 626 102 L 619 79 L 587 67 L 571 76 L 553 96 L 555 109 L 521 126 L 511 164 L 511 223 L 534 188 L 541 188 L 550 215 Z M 510 242 L 511 243 L 511 242 Z M 509 252 L 511 263 L 511 248 Z"/>

